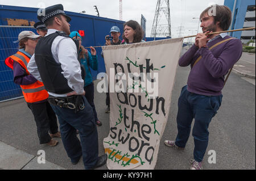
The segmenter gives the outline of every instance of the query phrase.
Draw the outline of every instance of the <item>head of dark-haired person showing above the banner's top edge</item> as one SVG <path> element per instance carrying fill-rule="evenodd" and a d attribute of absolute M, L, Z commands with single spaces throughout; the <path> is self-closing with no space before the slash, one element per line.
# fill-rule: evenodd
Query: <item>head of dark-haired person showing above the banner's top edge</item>
<path fill-rule="evenodd" d="M 143 38 L 143 30 L 138 22 L 129 20 L 123 25 L 123 41 L 121 44 L 131 44 L 145 42 Z"/>

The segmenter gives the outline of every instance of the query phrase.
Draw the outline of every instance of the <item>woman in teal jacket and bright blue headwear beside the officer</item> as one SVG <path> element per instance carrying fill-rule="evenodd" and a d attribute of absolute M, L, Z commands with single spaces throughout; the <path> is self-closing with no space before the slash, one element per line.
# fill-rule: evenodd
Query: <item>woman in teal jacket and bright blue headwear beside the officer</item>
<path fill-rule="evenodd" d="M 90 72 L 90 68 L 93 70 L 98 70 L 98 60 L 96 55 L 96 50 L 93 47 L 90 47 L 90 52 L 86 50 L 82 45 L 82 37 L 77 31 L 72 31 L 69 35 L 72 39 L 79 40 L 79 60 L 81 65 L 85 68 L 85 79 L 84 79 L 84 90 L 85 90 L 85 98 L 88 100 L 90 106 L 93 108 L 94 117 L 96 120 L 96 124 L 101 126 L 101 121 L 98 120 L 97 112 L 94 106 L 94 85 L 92 81 L 92 74 Z"/>

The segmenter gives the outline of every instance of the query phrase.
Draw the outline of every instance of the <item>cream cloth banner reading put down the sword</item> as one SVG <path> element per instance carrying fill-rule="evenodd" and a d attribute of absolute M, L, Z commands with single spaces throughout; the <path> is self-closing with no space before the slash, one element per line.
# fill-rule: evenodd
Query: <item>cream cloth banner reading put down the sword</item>
<path fill-rule="evenodd" d="M 108 169 L 155 168 L 182 45 L 177 38 L 102 47 L 110 91 Z"/>

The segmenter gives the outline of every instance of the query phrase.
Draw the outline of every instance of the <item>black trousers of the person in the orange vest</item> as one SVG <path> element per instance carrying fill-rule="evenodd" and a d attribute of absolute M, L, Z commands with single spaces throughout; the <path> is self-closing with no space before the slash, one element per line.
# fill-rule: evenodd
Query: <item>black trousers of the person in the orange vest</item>
<path fill-rule="evenodd" d="M 28 108 L 32 111 L 38 132 L 40 144 L 46 144 L 51 141 L 49 133 L 58 132 L 57 117 L 48 102 L 27 103 Z"/>

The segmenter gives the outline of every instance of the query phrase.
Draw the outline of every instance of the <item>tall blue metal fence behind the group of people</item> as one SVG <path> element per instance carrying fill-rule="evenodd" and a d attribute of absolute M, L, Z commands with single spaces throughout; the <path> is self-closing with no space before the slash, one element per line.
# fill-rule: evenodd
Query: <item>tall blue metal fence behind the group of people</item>
<path fill-rule="evenodd" d="M 19 32 L 23 30 L 35 32 L 35 29 L 31 27 L 22 29 L 10 25 L 22 22 L 20 26 L 32 26 L 35 22 L 38 22 L 36 19 L 37 10 L 30 7 L 0 6 L 0 101 L 22 96 L 19 86 L 13 83 L 13 71 L 5 65 L 4 60 L 16 53 L 18 42 L 14 42 L 18 40 Z M 122 33 L 124 22 L 120 20 L 65 12 L 72 18 L 70 22 L 71 31 L 84 30 L 85 36 L 82 37 L 84 47 L 104 45 L 105 36 L 110 34 L 109 31 L 112 26 L 118 26 Z M 102 49 L 96 48 L 96 50 L 99 64 L 97 71 L 92 70 L 93 79 L 96 79 L 98 73 L 106 71 L 104 59 L 101 57 Z"/>

